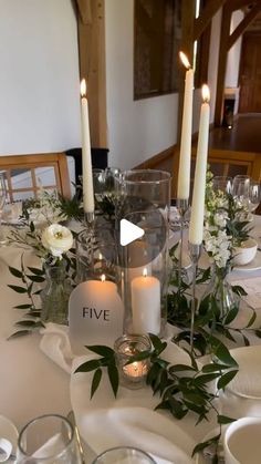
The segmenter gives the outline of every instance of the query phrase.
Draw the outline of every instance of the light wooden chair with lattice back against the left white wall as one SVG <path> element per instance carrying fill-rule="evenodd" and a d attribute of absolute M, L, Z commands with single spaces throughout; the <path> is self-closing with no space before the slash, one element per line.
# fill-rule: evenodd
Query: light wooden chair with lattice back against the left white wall
<path fill-rule="evenodd" d="M 71 197 L 67 159 L 64 153 L 0 156 L 0 172 L 7 175 L 9 202 L 36 197 L 39 189 L 56 190 Z"/>

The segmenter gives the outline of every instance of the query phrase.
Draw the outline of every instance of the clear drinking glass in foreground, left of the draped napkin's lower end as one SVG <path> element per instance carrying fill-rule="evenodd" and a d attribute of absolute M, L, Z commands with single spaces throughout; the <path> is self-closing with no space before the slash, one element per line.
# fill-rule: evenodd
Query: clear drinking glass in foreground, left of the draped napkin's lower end
<path fill-rule="evenodd" d="M 18 439 L 17 464 L 81 464 L 75 431 L 67 419 L 46 414 L 30 421 Z"/>

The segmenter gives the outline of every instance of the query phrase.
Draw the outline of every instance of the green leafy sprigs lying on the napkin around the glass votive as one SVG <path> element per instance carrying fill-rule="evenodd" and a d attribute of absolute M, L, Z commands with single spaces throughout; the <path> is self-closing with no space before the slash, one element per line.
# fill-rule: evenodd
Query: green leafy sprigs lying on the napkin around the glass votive
<path fill-rule="evenodd" d="M 142 362 L 146 359 L 149 360 L 146 383 L 153 390 L 154 395 L 157 394 L 160 398 L 160 402 L 155 410 L 166 410 L 178 420 L 185 417 L 189 412 L 194 413 L 197 416 L 196 424 L 202 420 L 208 420 L 210 411 L 215 411 L 220 433 L 203 443 L 197 444 L 192 454 L 202 451 L 210 444 L 216 446 L 217 453 L 218 442 L 221 436 L 221 425 L 233 421 L 233 419 L 219 414 L 215 400 L 219 395 L 219 390 L 225 390 L 237 375 L 238 364 L 236 360 L 220 340 L 209 336 L 208 343 L 211 347 L 212 362 L 199 367 L 196 358 L 190 352 L 187 352 L 190 358 L 190 364 L 170 364 L 161 358 L 167 342 L 161 341 L 152 333 L 149 338 L 153 346 L 152 350 L 142 351 L 133 355 L 125 365 L 133 362 Z M 86 348 L 101 358 L 84 362 L 74 373 L 94 371 L 91 384 L 92 399 L 102 380 L 103 368 L 106 368 L 111 386 L 116 398 L 119 374 L 115 351 L 104 346 L 87 346 Z"/>

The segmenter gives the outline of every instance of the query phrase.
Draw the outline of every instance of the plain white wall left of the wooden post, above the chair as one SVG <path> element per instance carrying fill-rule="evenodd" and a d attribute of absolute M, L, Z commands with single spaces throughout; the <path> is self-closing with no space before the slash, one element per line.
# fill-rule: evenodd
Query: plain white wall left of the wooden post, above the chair
<path fill-rule="evenodd" d="M 80 146 L 71 0 L 0 0 L 0 155 Z"/>

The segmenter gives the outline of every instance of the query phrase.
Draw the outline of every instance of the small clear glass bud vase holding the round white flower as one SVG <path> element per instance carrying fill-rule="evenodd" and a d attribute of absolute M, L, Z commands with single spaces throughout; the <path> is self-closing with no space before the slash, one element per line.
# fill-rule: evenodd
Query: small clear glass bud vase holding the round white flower
<path fill-rule="evenodd" d="M 46 285 L 41 292 L 43 322 L 67 324 L 67 303 L 72 291 L 66 278 L 66 264 L 64 260 L 56 265 L 44 264 Z"/>

